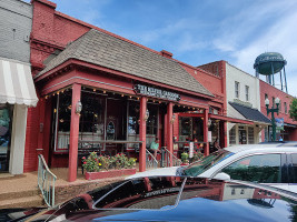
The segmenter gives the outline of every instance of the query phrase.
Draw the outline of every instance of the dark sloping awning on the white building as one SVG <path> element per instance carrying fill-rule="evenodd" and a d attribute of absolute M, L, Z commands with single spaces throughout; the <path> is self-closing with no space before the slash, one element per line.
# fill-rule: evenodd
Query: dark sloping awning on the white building
<path fill-rule="evenodd" d="M 249 108 L 249 107 L 238 104 L 235 102 L 229 102 L 229 104 L 237 112 L 239 112 L 240 115 L 246 118 L 246 120 L 257 122 L 257 123 L 264 123 L 264 124 L 270 124 L 271 123 L 271 121 L 257 109 Z"/>

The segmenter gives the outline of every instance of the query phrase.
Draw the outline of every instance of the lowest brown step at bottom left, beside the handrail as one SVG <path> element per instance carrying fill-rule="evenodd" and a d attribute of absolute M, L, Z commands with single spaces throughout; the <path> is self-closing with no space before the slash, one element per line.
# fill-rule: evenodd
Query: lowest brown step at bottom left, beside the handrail
<path fill-rule="evenodd" d="M 31 208 L 31 206 L 44 206 L 44 201 L 41 198 L 41 195 L 24 196 L 24 198 L 0 201 L 0 209 Z"/>

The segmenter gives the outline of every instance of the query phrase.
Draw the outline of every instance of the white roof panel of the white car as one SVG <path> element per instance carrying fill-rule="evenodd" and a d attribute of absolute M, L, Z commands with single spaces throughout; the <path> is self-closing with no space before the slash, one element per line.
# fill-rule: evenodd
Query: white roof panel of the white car
<path fill-rule="evenodd" d="M 295 143 L 259 143 L 259 144 L 241 144 L 225 148 L 225 150 L 238 153 L 242 151 L 261 151 L 261 152 L 297 152 L 297 142 Z"/>

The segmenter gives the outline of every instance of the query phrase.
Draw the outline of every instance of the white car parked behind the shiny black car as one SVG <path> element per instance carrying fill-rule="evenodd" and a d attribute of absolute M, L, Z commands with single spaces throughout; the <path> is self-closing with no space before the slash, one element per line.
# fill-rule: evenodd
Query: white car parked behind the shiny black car
<path fill-rule="evenodd" d="M 297 193 L 297 143 L 229 147 L 188 167 L 146 171 L 128 179 L 154 174 L 249 181 Z"/>

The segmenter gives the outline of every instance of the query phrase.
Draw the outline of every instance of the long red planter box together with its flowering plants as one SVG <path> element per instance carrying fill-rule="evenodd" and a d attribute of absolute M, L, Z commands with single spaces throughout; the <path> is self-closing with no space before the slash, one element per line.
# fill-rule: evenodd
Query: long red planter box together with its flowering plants
<path fill-rule="evenodd" d="M 128 158 L 123 153 L 113 157 L 97 155 L 96 152 L 90 153 L 88 158 L 82 158 L 82 167 L 87 171 L 85 176 L 87 180 L 113 178 L 121 175 L 130 175 L 136 173 L 136 159 Z"/>

